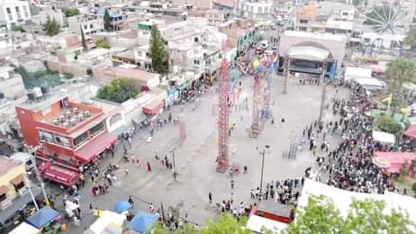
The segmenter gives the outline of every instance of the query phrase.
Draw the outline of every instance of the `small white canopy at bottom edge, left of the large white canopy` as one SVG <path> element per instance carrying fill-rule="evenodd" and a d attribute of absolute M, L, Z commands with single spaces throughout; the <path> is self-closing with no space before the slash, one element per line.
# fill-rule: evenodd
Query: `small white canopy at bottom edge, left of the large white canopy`
<path fill-rule="evenodd" d="M 273 231 L 272 233 L 281 233 L 282 230 L 287 228 L 287 224 L 276 220 L 270 220 L 258 215 L 251 215 L 247 221 L 247 229 L 255 231 L 257 233 L 264 233 L 261 228 Z"/>

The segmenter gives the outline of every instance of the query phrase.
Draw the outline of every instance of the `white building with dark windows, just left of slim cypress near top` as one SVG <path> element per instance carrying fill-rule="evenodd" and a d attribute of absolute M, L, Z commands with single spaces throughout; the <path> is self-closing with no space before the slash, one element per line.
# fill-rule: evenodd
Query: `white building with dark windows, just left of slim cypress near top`
<path fill-rule="evenodd" d="M 95 34 L 104 31 L 104 21 L 102 15 L 81 14 L 68 17 L 68 28 L 70 31 L 81 35 L 81 28 L 84 34 Z"/>

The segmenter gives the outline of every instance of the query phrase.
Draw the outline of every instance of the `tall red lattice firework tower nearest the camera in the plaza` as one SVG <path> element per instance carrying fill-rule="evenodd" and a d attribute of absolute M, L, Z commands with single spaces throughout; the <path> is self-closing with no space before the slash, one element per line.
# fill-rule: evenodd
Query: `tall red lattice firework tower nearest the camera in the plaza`
<path fill-rule="evenodd" d="M 231 92 L 231 76 L 230 64 L 224 58 L 222 59 L 221 75 L 220 75 L 220 103 L 218 112 L 218 158 L 217 171 L 225 173 L 230 166 L 229 162 L 229 139 L 230 139 L 230 92 Z"/>

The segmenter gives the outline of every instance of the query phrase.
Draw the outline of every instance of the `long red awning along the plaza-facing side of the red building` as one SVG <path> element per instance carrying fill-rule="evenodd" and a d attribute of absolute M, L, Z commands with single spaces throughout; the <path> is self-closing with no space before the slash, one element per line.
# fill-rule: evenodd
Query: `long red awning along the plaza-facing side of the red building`
<path fill-rule="evenodd" d="M 105 149 L 115 144 L 116 140 L 117 137 L 108 132 L 104 132 L 86 143 L 82 148 L 77 149 L 75 156 L 81 163 L 89 163 Z"/>

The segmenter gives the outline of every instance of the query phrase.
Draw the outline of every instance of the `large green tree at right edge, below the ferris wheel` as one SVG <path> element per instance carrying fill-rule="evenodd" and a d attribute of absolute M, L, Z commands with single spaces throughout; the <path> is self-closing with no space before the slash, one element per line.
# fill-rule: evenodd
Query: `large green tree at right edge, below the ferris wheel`
<path fill-rule="evenodd" d="M 387 64 L 385 76 L 393 99 L 400 99 L 403 84 L 416 80 L 416 65 L 408 58 L 394 58 Z"/>

